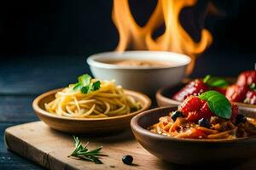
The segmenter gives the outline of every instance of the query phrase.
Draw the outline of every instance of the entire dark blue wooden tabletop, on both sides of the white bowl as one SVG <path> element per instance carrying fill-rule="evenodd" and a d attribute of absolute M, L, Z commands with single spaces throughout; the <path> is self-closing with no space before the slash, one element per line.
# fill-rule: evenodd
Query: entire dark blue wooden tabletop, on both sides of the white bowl
<path fill-rule="evenodd" d="M 6 150 L 3 133 L 6 127 L 37 121 L 32 99 L 53 88 L 75 82 L 90 72 L 84 56 L 15 56 L 0 59 L 0 169 L 42 169 L 32 161 Z M 197 60 L 191 77 L 206 74 L 235 77 L 240 71 L 253 69 L 255 54 L 212 53 Z"/>

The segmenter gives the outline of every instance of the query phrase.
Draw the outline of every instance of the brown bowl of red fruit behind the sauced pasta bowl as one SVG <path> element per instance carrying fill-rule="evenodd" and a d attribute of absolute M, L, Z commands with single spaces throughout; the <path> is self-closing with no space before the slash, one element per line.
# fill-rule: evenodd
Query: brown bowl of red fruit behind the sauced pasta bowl
<path fill-rule="evenodd" d="M 178 90 L 183 88 L 186 83 L 181 83 L 174 87 L 160 88 L 155 94 L 157 105 L 162 106 L 177 106 L 182 102 L 172 99 L 172 96 L 177 93 Z M 256 111 L 256 105 L 249 105 L 241 102 L 233 102 L 242 110 Z"/>

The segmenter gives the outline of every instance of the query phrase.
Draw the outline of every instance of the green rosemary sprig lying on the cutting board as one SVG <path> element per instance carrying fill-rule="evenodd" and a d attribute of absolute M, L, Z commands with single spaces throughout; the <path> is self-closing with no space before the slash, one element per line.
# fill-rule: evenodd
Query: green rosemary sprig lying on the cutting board
<path fill-rule="evenodd" d="M 73 136 L 73 140 L 75 144 L 75 149 L 73 150 L 70 156 L 77 157 L 84 161 L 94 161 L 96 164 L 102 164 L 102 161 L 100 160 L 99 156 L 107 156 L 107 155 L 102 155 L 100 153 L 100 151 L 102 150 L 102 146 L 99 148 L 96 148 L 95 150 L 88 151 L 87 146 L 89 142 L 87 142 L 87 144 L 83 146 L 81 141 L 79 140 L 79 137 Z"/>

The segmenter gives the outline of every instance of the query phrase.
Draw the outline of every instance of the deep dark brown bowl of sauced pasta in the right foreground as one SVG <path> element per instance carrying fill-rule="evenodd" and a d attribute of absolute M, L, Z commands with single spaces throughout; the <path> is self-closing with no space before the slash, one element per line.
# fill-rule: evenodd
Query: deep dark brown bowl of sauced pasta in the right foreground
<path fill-rule="evenodd" d="M 177 107 L 162 107 L 131 119 L 131 129 L 137 141 L 151 154 L 162 160 L 176 164 L 201 165 L 244 160 L 256 156 L 256 138 L 241 139 L 176 139 L 148 131 L 148 127 L 158 122 Z M 242 112 L 242 111 L 241 111 Z M 256 112 L 247 112 L 256 117 Z"/>

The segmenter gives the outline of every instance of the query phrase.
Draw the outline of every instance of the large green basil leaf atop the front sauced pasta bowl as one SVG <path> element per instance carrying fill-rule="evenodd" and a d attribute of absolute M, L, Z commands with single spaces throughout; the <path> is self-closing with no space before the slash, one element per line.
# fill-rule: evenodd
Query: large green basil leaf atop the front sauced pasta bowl
<path fill-rule="evenodd" d="M 200 99 L 207 101 L 210 110 L 219 117 L 230 119 L 232 106 L 230 101 L 217 91 L 210 90 L 199 96 Z"/>

